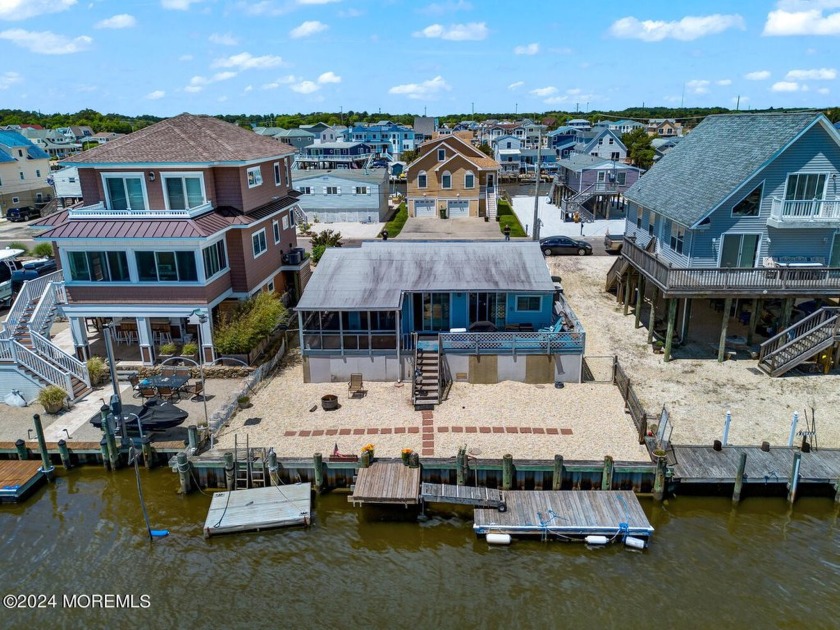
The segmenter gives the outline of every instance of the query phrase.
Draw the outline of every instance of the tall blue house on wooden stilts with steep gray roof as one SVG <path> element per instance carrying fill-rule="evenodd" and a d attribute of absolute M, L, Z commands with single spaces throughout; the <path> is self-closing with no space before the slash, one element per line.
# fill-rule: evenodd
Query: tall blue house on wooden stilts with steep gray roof
<path fill-rule="evenodd" d="M 666 360 L 692 303 L 709 299 L 723 313 L 720 360 L 733 331 L 767 338 L 758 365 L 772 375 L 836 350 L 836 310 L 819 306 L 840 295 L 838 173 L 840 132 L 822 114 L 709 116 L 625 193 L 608 285 L 637 309 L 649 301 L 653 324 L 667 313 Z"/>

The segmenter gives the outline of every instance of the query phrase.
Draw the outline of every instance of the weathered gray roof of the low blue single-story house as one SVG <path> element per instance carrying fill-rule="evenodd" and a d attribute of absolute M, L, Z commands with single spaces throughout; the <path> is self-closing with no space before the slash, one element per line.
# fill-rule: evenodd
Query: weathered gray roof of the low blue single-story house
<path fill-rule="evenodd" d="M 396 310 L 405 291 L 551 293 L 538 243 L 366 242 L 328 248 L 297 309 Z"/>

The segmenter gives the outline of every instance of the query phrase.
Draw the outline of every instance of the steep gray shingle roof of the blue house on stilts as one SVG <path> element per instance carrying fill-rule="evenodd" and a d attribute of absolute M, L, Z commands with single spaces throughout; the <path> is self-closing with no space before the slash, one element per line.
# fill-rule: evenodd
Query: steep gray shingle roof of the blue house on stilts
<path fill-rule="evenodd" d="M 624 196 L 692 226 L 821 118 L 829 124 L 815 112 L 708 116 Z"/>

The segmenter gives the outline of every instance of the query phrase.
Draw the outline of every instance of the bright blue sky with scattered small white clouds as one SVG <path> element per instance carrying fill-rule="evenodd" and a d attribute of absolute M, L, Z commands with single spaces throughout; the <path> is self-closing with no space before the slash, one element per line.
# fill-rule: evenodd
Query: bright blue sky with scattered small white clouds
<path fill-rule="evenodd" d="M 0 107 L 826 107 L 840 0 L 0 0 Z"/>

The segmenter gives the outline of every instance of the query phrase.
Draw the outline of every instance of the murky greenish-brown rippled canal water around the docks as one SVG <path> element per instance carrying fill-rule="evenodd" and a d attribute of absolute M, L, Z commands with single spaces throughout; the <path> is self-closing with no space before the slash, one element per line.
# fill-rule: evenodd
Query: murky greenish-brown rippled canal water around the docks
<path fill-rule="evenodd" d="M 179 497 L 168 470 L 82 468 L 0 507 L 3 594 L 56 594 L 2 610 L 0 627 L 837 628 L 840 521 L 828 499 L 644 502 L 651 547 L 516 541 L 489 548 L 469 512 L 351 508 L 319 497 L 309 529 L 204 540 L 209 496 Z M 402 517 L 402 518 L 400 518 Z M 148 595 L 130 612 L 63 609 L 62 595 Z"/>

